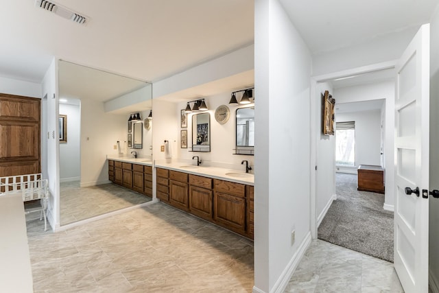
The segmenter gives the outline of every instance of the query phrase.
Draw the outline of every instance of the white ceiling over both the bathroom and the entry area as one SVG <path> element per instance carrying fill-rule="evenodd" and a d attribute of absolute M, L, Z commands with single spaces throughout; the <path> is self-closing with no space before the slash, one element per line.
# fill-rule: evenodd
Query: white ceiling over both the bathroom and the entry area
<path fill-rule="evenodd" d="M 373 41 L 429 22 L 437 0 L 280 0 L 312 54 Z M 0 76 L 40 82 L 54 56 L 145 81 L 189 69 L 254 40 L 252 0 L 56 0 L 90 18 L 78 25 L 34 6 L 0 10 Z M 361 56 L 359 56 L 361 58 Z M 239 78 L 237 76 L 236 78 Z M 208 95 L 253 81 L 222 80 L 182 94 Z M 340 81 L 335 87 L 346 86 Z"/>

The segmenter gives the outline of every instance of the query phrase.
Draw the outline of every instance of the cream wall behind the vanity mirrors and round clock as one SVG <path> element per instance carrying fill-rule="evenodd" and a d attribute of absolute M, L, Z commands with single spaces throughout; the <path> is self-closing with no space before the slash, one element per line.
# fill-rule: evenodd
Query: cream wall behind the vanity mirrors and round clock
<path fill-rule="evenodd" d="M 222 93 L 219 95 L 214 95 L 211 97 L 203 97 L 206 99 L 206 105 L 209 108 L 207 111 L 202 113 L 209 113 L 211 117 L 210 127 L 211 127 L 211 152 L 191 152 L 191 141 L 192 141 L 192 116 L 189 113 L 187 115 L 187 128 L 181 128 L 180 124 L 180 110 L 186 108 L 186 102 L 178 103 L 176 106 L 176 115 L 178 120 L 178 143 L 177 143 L 177 156 L 182 159 L 192 159 L 192 156 L 200 156 L 200 159 L 204 163 L 209 163 L 209 161 L 229 163 L 235 165 L 241 165 L 241 161 L 247 160 L 248 163 L 254 165 L 253 156 L 245 156 L 239 154 L 233 154 L 235 152 L 236 139 L 235 139 L 235 124 L 236 124 L 236 110 L 237 108 L 244 108 L 244 105 L 237 106 L 229 105 L 231 91 L 227 93 Z M 226 124 L 219 124 L 215 120 L 215 109 L 217 106 L 226 105 L 230 109 L 230 119 Z M 249 106 L 254 106 L 254 104 L 248 104 Z M 193 103 L 191 103 L 193 106 Z M 187 149 L 180 148 L 180 130 L 187 129 Z M 243 167 L 243 171 L 245 167 Z"/>

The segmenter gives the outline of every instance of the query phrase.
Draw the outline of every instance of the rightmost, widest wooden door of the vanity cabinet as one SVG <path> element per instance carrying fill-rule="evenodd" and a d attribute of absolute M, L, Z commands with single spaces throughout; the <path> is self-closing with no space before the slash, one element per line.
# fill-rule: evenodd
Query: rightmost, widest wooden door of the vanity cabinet
<path fill-rule="evenodd" d="M 238 233 L 245 233 L 246 198 L 215 192 L 213 217 L 217 224 Z"/>

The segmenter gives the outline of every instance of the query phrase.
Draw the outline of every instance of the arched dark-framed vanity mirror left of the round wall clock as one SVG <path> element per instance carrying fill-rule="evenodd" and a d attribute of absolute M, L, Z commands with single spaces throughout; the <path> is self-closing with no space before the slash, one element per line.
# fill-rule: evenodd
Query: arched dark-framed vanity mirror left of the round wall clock
<path fill-rule="evenodd" d="M 211 151 L 211 115 L 201 113 L 192 116 L 192 152 Z"/>

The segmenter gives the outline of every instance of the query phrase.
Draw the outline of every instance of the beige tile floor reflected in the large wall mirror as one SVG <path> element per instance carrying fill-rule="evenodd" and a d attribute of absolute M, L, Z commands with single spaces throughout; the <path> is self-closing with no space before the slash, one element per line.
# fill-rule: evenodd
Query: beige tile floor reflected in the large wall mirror
<path fill-rule="evenodd" d="M 61 226 L 151 200 L 152 198 L 112 183 L 91 187 L 80 187 L 79 181 L 61 183 Z"/>

